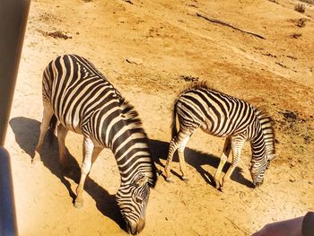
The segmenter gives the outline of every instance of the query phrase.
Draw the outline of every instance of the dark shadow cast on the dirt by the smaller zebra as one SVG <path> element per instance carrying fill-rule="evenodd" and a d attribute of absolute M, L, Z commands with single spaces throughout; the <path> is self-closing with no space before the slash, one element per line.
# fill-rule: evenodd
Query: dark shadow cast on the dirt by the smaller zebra
<path fill-rule="evenodd" d="M 164 164 L 161 162 L 161 160 L 167 160 L 169 143 L 153 139 L 151 139 L 149 143 L 152 150 L 153 161 L 161 167 L 161 169 L 159 169 L 157 166 L 157 169 L 159 169 L 158 172 L 161 173 L 164 168 Z M 220 162 L 220 158 L 214 156 L 213 154 L 203 153 L 188 147 L 185 148 L 184 156 L 188 165 L 193 166 L 208 184 L 215 187 L 213 176 L 214 173 L 212 175 L 207 170 L 205 170 L 203 166 L 210 165 L 216 169 Z M 173 155 L 173 162 L 179 162 L 178 152 Z M 225 173 L 230 165 L 230 162 L 226 162 L 222 171 Z M 179 175 L 180 173 L 177 173 L 174 170 L 171 170 L 171 173 L 181 179 L 181 176 Z M 162 176 L 165 179 L 165 176 L 163 174 Z M 247 186 L 248 188 L 254 188 L 252 181 L 246 179 L 243 176 L 242 169 L 239 167 L 236 167 L 236 169 L 233 171 L 231 179 L 237 181 L 242 185 Z"/>

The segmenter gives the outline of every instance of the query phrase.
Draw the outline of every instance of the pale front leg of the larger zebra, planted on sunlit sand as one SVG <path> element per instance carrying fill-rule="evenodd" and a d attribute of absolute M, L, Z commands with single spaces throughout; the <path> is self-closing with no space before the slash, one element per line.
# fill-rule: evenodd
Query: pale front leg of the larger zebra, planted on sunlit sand
<path fill-rule="evenodd" d="M 90 173 L 92 168 L 92 153 L 94 149 L 94 144 L 92 139 L 89 137 L 84 137 L 83 140 L 83 163 L 81 167 L 81 179 L 79 185 L 76 188 L 76 198 L 74 201 L 74 206 L 76 208 L 81 208 L 83 206 L 83 188 L 87 175 Z"/>

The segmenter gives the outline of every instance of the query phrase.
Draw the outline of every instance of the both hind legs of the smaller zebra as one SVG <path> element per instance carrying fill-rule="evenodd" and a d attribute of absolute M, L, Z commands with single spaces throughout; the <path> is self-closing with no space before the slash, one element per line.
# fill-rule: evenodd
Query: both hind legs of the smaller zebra
<path fill-rule="evenodd" d="M 168 182 L 172 182 L 171 177 L 171 168 L 170 163 L 172 162 L 173 154 L 178 150 L 179 153 L 179 162 L 180 162 L 180 170 L 182 172 L 182 179 L 188 179 L 186 174 L 186 166 L 184 161 L 184 148 L 188 143 L 189 134 L 184 134 L 182 131 L 179 131 L 177 135 L 175 135 L 172 140 L 170 141 L 169 145 L 169 153 L 168 158 L 165 166 L 165 175 L 166 180 Z"/>

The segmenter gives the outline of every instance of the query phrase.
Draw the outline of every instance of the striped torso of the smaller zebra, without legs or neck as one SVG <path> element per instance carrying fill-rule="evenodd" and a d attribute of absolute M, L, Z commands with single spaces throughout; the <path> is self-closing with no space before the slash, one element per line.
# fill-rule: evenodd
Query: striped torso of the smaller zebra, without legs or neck
<path fill-rule="evenodd" d="M 203 83 L 182 92 L 175 107 L 180 124 L 193 129 L 201 127 L 216 136 L 243 133 L 257 119 L 256 109 L 248 102 L 212 90 Z"/>

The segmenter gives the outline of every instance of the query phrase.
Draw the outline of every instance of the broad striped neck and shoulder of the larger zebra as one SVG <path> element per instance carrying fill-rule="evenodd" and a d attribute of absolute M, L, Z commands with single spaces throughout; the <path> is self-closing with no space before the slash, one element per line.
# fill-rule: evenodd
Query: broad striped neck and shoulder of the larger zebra
<path fill-rule="evenodd" d="M 155 185 L 156 174 L 138 114 L 128 103 L 123 102 L 118 109 L 118 116 L 109 123 L 109 132 L 103 134 L 103 143 L 114 153 L 121 176 L 121 184 L 130 184 L 143 174 Z M 103 124 L 108 126 L 108 124 Z"/>

